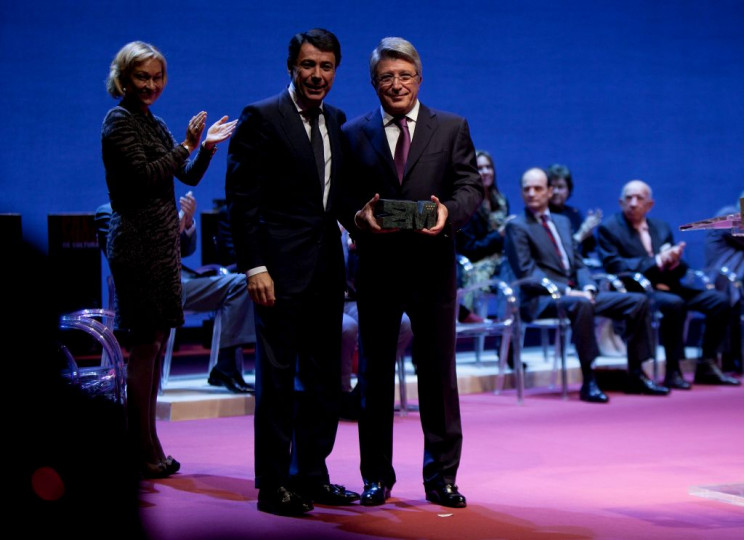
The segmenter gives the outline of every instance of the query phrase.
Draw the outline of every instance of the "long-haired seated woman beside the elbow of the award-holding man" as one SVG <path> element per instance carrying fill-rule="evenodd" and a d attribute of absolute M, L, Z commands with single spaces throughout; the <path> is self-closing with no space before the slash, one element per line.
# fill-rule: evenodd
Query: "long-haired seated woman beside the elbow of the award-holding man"
<path fill-rule="evenodd" d="M 504 248 L 504 227 L 513 216 L 509 215 L 509 202 L 496 184 L 496 169 L 491 155 L 478 150 L 475 153 L 478 172 L 483 182 L 483 202 L 470 221 L 457 233 L 457 252 L 467 257 L 473 265 L 464 273 L 461 286 L 468 287 L 488 281 L 498 273 Z M 460 306 L 460 322 L 482 322 L 473 312 L 473 295 L 467 295 Z"/>

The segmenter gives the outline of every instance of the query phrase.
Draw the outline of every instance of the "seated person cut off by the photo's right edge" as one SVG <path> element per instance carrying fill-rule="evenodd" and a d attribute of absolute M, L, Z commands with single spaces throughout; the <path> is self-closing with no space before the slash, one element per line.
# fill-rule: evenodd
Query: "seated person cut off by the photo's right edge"
<path fill-rule="evenodd" d="M 744 191 L 739 195 L 739 199 L 744 199 Z M 721 208 L 717 217 L 738 214 L 741 212 L 739 201 L 732 206 Z M 705 268 L 708 277 L 720 285 L 719 271 L 723 267 L 733 272 L 739 281 L 744 281 L 744 236 L 734 236 L 730 229 L 711 229 L 705 237 Z M 729 343 L 731 344 L 728 351 L 724 351 L 722 367 L 724 371 L 733 371 L 743 373 L 742 368 L 742 333 L 741 333 L 741 316 L 744 315 L 744 298 L 742 291 L 738 287 L 727 287 L 729 295 L 729 304 L 732 306 L 731 324 L 729 326 Z M 737 314 L 740 316 L 737 318 Z M 737 346 L 740 345 L 740 346 Z"/>

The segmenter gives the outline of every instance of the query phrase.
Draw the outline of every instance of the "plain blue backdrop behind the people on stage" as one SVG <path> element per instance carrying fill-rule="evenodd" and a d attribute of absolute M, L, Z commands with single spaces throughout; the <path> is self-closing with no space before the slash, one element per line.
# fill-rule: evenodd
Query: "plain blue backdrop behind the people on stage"
<path fill-rule="evenodd" d="M 515 210 L 521 173 L 556 161 L 574 173 L 575 206 L 614 212 L 622 184 L 641 178 L 654 188 L 652 215 L 675 227 L 744 189 L 742 1 L 379 4 L 3 0 L 0 212 L 21 213 L 24 236 L 46 246 L 47 214 L 107 200 L 99 137 L 115 102 L 104 80 L 124 43 L 165 54 L 169 82 L 153 111 L 180 138 L 201 109 L 233 118 L 282 90 L 287 42 L 313 26 L 341 40 L 329 102 L 349 117 L 377 105 L 367 70 L 377 41 L 412 41 L 421 100 L 468 118 Z M 202 210 L 224 195 L 225 156 L 195 190 Z M 702 263 L 703 233 L 676 236 Z"/>

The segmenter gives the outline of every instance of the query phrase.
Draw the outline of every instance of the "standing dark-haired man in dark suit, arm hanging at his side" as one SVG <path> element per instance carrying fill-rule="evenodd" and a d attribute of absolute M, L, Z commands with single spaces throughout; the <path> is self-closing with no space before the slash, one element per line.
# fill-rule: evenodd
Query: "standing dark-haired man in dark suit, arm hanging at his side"
<path fill-rule="evenodd" d="M 337 223 L 344 113 L 323 101 L 341 48 L 312 29 L 289 43 L 289 88 L 247 106 L 231 139 L 226 195 L 238 268 L 256 304 L 258 509 L 300 515 L 350 504 L 331 484 L 341 397 L 344 258 Z"/>

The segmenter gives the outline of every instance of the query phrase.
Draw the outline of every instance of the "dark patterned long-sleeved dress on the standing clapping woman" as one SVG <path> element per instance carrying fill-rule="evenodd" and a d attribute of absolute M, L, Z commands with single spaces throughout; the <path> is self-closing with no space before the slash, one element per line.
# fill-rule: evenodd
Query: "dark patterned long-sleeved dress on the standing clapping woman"
<path fill-rule="evenodd" d="M 194 186 L 212 153 L 192 161 L 165 123 L 126 100 L 101 133 L 112 215 L 107 258 L 116 289 L 116 327 L 152 331 L 183 324 L 178 209 L 173 177 Z"/>

